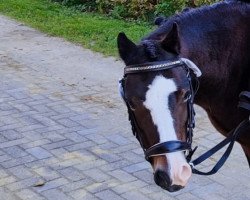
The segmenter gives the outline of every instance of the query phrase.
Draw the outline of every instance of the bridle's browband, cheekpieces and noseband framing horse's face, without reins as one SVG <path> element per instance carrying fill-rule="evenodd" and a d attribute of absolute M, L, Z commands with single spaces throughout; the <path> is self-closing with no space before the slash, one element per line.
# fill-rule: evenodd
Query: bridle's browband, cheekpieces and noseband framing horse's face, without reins
<path fill-rule="evenodd" d="M 128 100 L 126 99 L 125 90 L 124 90 L 126 77 L 128 74 L 138 74 L 138 73 L 146 73 L 146 72 L 153 72 L 153 71 L 166 71 L 166 70 L 170 70 L 176 67 L 182 67 L 186 71 L 186 77 L 187 77 L 189 88 L 190 88 L 190 93 L 187 99 L 188 119 L 187 119 L 187 127 L 186 127 L 186 142 L 182 142 L 180 140 L 173 140 L 173 141 L 157 143 L 149 148 L 145 148 L 142 142 L 141 134 L 140 134 L 141 132 L 140 127 L 138 126 L 134 112 L 131 109 L 128 103 Z M 197 87 L 198 87 L 198 84 L 197 84 Z M 166 61 L 150 62 L 150 63 L 144 63 L 144 64 L 139 64 L 139 65 L 126 66 L 124 69 L 124 77 L 122 80 L 120 80 L 120 94 L 128 108 L 129 121 L 131 123 L 132 132 L 134 136 L 140 142 L 140 145 L 143 148 L 146 160 L 149 160 L 149 158 L 153 156 L 164 155 L 166 153 L 172 153 L 172 152 L 177 152 L 177 151 L 188 152 L 188 154 L 186 154 L 186 159 L 188 162 L 191 160 L 191 157 L 194 151 L 196 150 L 196 148 L 192 150 L 193 128 L 195 127 L 195 121 L 194 121 L 195 112 L 194 112 L 194 107 L 193 107 L 193 99 L 194 99 L 195 91 L 191 83 L 190 69 L 183 61 L 175 60 L 172 62 L 166 62 Z"/>

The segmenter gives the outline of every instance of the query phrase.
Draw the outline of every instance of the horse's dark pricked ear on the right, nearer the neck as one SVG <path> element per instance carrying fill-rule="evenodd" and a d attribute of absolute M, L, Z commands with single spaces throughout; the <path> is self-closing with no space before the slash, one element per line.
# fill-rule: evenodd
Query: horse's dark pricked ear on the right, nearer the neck
<path fill-rule="evenodd" d="M 178 25 L 174 22 L 172 29 L 161 42 L 162 48 L 168 52 L 179 54 L 180 53 L 180 40 Z"/>

